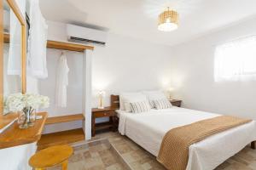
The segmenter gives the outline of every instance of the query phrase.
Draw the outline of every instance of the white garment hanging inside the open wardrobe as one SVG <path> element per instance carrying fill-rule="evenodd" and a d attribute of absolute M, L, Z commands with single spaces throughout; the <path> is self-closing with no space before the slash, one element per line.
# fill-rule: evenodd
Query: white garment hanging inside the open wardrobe
<path fill-rule="evenodd" d="M 61 54 L 58 61 L 55 84 L 55 105 L 58 107 L 67 107 L 67 85 L 68 85 L 67 57 Z"/>

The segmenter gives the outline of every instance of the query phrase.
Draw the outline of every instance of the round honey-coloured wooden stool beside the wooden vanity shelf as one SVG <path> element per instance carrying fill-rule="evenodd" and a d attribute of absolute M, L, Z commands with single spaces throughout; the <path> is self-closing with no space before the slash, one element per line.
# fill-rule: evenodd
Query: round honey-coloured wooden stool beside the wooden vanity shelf
<path fill-rule="evenodd" d="M 72 154 L 73 148 L 67 144 L 51 146 L 33 155 L 29 159 L 29 165 L 35 170 L 45 170 L 47 167 L 61 164 L 62 170 L 67 170 L 67 161 Z"/>

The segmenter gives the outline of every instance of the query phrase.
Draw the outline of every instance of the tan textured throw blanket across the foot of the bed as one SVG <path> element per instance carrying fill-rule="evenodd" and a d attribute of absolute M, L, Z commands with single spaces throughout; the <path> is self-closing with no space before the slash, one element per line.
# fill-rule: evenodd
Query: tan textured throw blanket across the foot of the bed
<path fill-rule="evenodd" d="M 189 160 L 189 145 L 251 121 L 235 116 L 217 116 L 173 128 L 162 140 L 157 161 L 169 170 L 184 170 Z"/>

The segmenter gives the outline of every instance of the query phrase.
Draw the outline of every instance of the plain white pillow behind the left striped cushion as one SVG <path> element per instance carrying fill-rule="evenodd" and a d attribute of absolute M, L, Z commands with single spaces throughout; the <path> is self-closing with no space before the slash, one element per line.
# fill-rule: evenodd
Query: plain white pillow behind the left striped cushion
<path fill-rule="evenodd" d="M 120 93 L 119 105 L 121 111 L 131 112 L 131 102 L 147 100 L 147 97 L 142 93 Z"/>

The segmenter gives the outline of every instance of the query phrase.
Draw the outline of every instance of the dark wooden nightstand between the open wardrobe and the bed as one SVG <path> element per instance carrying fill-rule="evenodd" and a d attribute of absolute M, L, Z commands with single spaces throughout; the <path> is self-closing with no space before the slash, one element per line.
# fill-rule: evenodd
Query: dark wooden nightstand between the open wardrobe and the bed
<path fill-rule="evenodd" d="M 91 110 L 91 136 L 95 136 L 96 130 L 111 128 L 113 131 L 116 127 L 116 112 L 113 107 L 105 107 L 104 109 L 93 108 Z M 96 118 L 109 117 L 109 122 L 96 123 Z"/>

